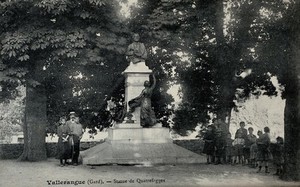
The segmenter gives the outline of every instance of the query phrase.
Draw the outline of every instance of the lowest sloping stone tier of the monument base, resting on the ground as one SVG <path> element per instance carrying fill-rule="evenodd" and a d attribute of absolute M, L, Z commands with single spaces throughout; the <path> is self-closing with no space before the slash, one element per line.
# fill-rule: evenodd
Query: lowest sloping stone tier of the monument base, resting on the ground
<path fill-rule="evenodd" d="M 81 153 L 83 164 L 204 163 L 206 158 L 173 143 L 104 142 Z"/>

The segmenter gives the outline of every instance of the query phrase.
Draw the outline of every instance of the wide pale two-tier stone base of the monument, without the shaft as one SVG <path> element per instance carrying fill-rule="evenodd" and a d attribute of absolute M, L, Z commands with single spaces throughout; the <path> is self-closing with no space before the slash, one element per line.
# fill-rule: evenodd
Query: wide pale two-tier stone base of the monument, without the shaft
<path fill-rule="evenodd" d="M 81 153 L 83 164 L 204 163 L 204 156 L 172 143 L 167 128 L 109 129 L 107 140 Z"/>

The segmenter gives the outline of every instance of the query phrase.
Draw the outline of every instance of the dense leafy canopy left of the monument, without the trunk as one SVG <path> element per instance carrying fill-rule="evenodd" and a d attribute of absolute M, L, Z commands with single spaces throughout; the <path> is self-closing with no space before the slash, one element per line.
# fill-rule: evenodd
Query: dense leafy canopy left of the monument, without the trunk
<path fill-rule="evenodd" d="M 45 86 L 50 124 L 70 110 L 86 120 L 127 66 L 130 33 L 119 8 L 105 0 L 1 2 L 2 84 Z"/>

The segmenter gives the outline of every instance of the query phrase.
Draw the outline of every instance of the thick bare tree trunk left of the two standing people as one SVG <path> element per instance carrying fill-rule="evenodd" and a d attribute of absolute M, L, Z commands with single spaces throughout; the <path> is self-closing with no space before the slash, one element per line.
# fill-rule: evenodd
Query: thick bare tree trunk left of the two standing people
<path fill-rule="evenodd" d="M 24 131 L 24 150 L 19 160 L 40 161 L 46 156 L 46 94 L 42 86 L 27 83 Z"/>

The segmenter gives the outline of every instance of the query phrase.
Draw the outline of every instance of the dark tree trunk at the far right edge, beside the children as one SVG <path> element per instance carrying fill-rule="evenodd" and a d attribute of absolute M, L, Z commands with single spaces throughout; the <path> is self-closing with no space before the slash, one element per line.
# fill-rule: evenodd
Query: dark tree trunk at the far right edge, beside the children
<path fill-rule="evenodd" d="M 285 164 L 282 179 L 300 180 L 300 41 L 292 46 L 288 64 L 284 111 Z"/>

